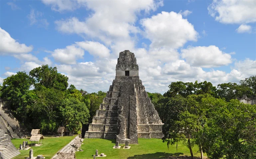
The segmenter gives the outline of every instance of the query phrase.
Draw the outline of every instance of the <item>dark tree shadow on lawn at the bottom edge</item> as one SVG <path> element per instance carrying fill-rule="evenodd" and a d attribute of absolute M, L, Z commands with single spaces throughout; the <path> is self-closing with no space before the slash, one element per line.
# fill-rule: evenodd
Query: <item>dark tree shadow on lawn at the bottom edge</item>
<path fill-rule="evenodd" d="M 140 159 L 140 158 L 179 158 L 179 159 L 191 159 L 191 156 L 180 156 L 183 155 L 181 152 L 177 153 L 165 153 L 165 152 L 156 152 L 156 153 L 148 153 L 148 154 L 142 154 L 142 155 L 134 155 L 132 157 L 128 157 L 127 159 Z M 197 157 L 194 157 L 197 159 Z"/>

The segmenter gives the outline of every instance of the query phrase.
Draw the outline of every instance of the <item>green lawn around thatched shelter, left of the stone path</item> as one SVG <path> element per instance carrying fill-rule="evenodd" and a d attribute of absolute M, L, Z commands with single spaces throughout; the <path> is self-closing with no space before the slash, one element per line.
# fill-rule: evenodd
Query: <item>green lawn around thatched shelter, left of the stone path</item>
<path fill-rule="evenodd" d="M 63 137 L 46 137 L 46 136 L 44 136 L 41 146 L 39 146 L 39 147 L 32 146 L 33 151 L 34 151 L 34 156 L 44 155 L 44 157 L 46 157 L 46 159 L 50 159 L 60 149 L 62 149 L 66 144 L 68 144 L 74 137 L 75 136 L 63 136 Z M 20 144 L 22 144 L 23 141 L 28 141 L 28 143 L 30 143 L 29 139 L 24 139 L 24 138 L 12 139 L 12 143 L 17 148 L 20 147 Z M 21 152 L 21 154 L 14 157 L 13 159 L 24 159 L 25 157 L 29 157 L 29 150 L 21 150 L 20 152 Z"/>

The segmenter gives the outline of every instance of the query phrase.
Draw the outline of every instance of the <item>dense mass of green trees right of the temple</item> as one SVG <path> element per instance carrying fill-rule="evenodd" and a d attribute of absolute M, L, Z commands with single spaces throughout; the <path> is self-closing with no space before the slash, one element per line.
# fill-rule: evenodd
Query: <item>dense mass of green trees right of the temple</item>
<path fill-rule="evenodd" d="M 209 158 L 255 158 L 256 105 L 236 99 L 243 94 L 255 99 L 255 84 L 255 76 L 217 88 L 206 81 L 178 81 L 163 96 L 148 93 L 165 124 L 163 142 L 169 147 L 183 141 L 192 157 L 197 144 L 201 158 L 203 152 Z"/>

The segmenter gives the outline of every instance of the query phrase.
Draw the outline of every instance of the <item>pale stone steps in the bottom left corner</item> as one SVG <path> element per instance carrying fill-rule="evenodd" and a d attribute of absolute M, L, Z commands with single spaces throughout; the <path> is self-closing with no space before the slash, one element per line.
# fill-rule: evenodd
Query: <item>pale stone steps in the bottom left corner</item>
<path fill-rule="evenodd" d="M 11 159 L 20 154 L 20 151 L 12 144 L 10 136 L 0 129 L 0 159 Z"/>

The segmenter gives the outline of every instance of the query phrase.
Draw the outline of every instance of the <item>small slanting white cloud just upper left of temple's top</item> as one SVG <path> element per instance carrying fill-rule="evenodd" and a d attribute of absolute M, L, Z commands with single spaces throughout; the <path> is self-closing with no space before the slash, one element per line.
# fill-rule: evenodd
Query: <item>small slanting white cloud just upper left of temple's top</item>
<path fill-rule="evenodd" d="M 89 54 L 93 55 L 94 57 L 104 58 L 110 55 L 110 50 L 99 42 L 81 41 L 75 43 L 84 50 L 88 51 Z"/>

